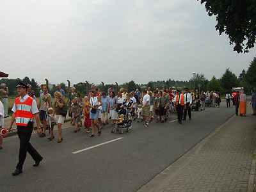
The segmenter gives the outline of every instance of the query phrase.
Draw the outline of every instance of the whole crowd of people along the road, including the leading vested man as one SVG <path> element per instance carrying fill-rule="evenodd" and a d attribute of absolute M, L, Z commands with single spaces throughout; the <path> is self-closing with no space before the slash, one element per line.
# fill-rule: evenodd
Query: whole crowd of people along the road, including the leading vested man
<path fill-rule="evenodd" d="M 6 85 L 4 85 L 6 86 Z M 6 94 L 6 90 L 2 90 Z M 92 88 L 88 95 L 81 97 L 72 87 L 67 90 L 57 86 L 56 92 L 52 95 L 49 93 L 47 84 L 42 84 L 40 97 L 36 99 L 35 92 L 31 90 L 29 84 L 22 81 L 17 85 L 19 97 L 15 99 L 12 108 L 12 118 L 9 131 L 12 125 L 17 125 L 17 132 L 20 139 L 19 163 L 13 175 L 22 173 L 22 165 L 26 158 L 26 152 L 29 152 L 38 166 L 42 161 L 42 156 L 29 143 L 33 124 L 36 123 L 37 131 L 40 138 L 46 137 L 46 131 L 49 130 L 49 141 L 54 140 L 54 126 L 58 127 L 58 143 L 63 141 L 62 125 L 65 118 L 70 116 L 71 124 L 74 125 L 74 133 L 81 131 L 84 127 L 85 133 L 89 137 L 100 136 L 104 125 L 112 124 L 125 125 L 127 131 L 131 129 L 131 122 L 143 122 L 145 127 L 150 122 L 155 121 L 164 123 L 172 113 L 177 113 L 179 124 L 191 120 L 191 111 L 204 111 L 205 106 L 220 107 L 221 97 L 218 92 L 198 92 L 191 91 L 188 88 L 179 90 L 175 88 L 144 89 L 142 92 L 136 89 L 127 92 L 125 88 L 114 90 L 113 87 L 108 92 L 102 92 L 99 88 Z M 6 97 L 4 97 L 6 98 Z M 236 115 L 246 115 L 246 95 L 241 92 L 227 93 L 225 95 L 227 108 L 230 108 L 230 100 L 236 106 Z M 2 99 L 4 102 L 4 99 Z M 256 115 L 256 93 L 252 95 L 253 115 Z M 0 129 L 4 126 L 4 104 L 0 101 Z M 125 119 L 125 118 L 131 119 Z M 113 130 L 111 132 L 114 132 Z M 119 131 L 119 133 L 123 133 Z M 3 136 L 0 134 L 0 149 L 2 149 Z"/>

